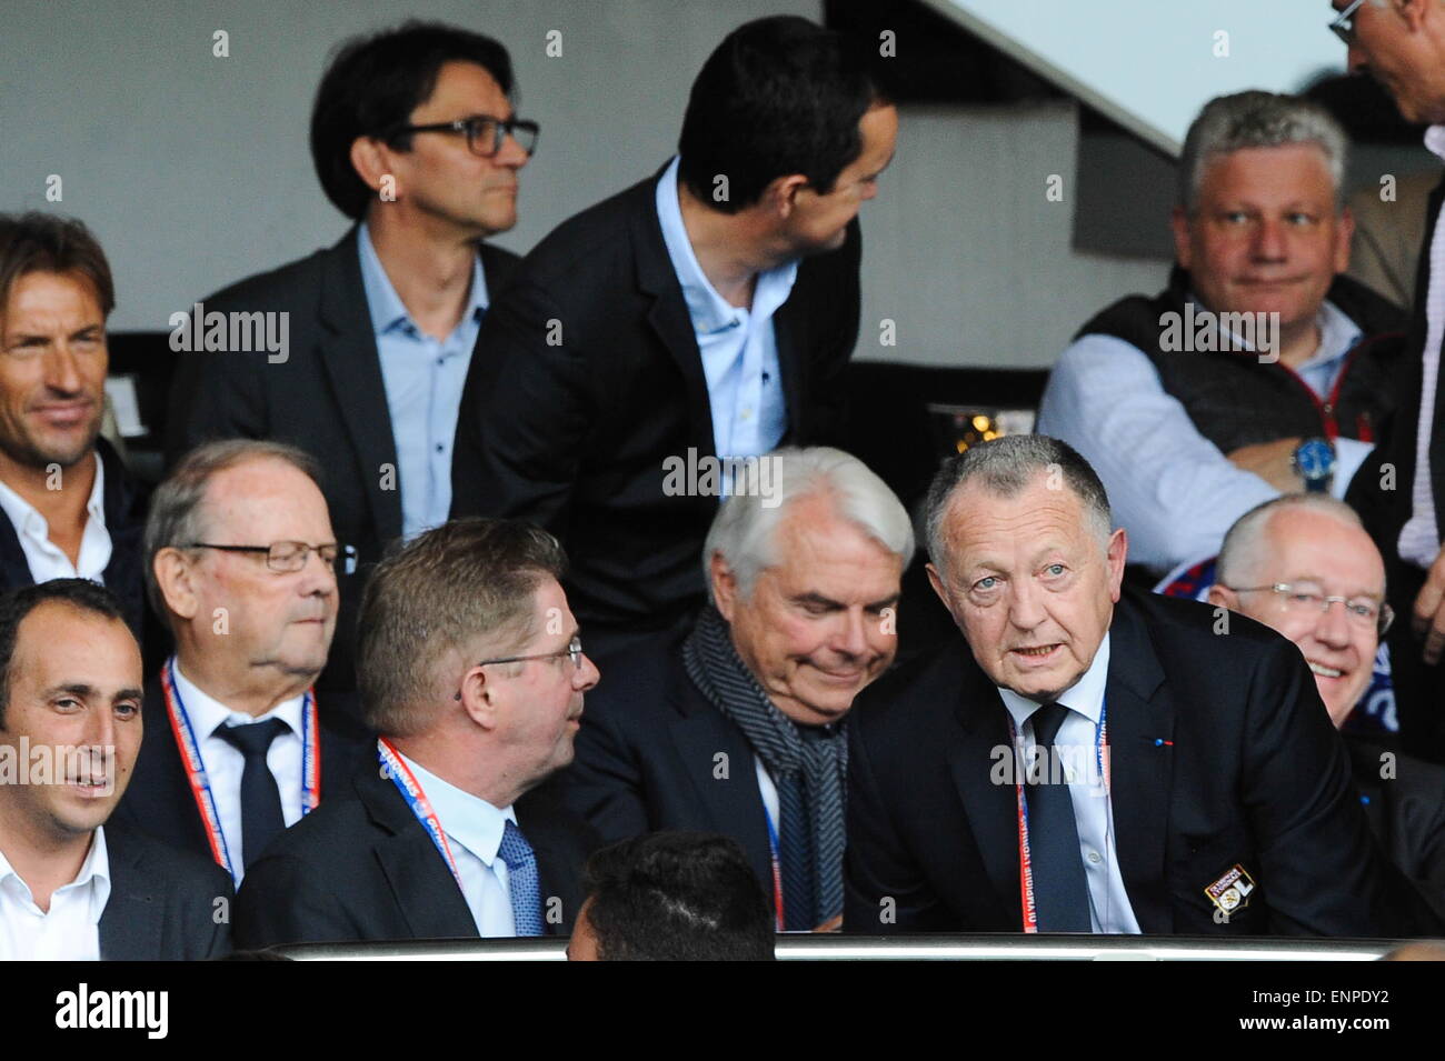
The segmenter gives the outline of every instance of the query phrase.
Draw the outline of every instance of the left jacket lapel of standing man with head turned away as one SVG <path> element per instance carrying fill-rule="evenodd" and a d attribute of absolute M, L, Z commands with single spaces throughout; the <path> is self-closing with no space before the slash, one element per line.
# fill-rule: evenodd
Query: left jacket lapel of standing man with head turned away
<path fill-rule="evenodd" d="M 657 178 L 662 172 L 657 170 Z M 698 456 L 704 456 L 717 449 L 712 442 L 712 403 L 708 400 L 702 354 L 698 351 L 688 303 L 682 297 L 682 284 L 678 283 L 672 258 L 668 256 L 668 244 L 662 238 L 662 222 L 657 219 L 657 178 L 642 182 L 631 192 L 631 241 L 637 260 L 637 287 L 653 299 L 647 323 L 682 374 L 688 401 L 688 445 L 698 450 Z"/>

